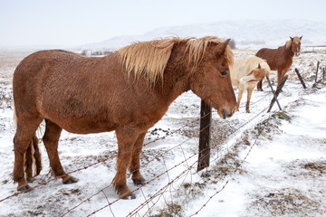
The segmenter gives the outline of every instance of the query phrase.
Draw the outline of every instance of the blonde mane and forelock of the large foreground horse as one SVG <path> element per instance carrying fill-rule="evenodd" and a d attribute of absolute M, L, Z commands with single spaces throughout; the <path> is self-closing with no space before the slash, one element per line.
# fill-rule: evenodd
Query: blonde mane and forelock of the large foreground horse
<path fill-rule="evenodd" d="M 134 71 L 136 79 L 144 77 L 150 83 L 155 84 L 158 78 L 163 79 L 172 48 L 174 44 L 180 42 L 185 42 L 187 45 L 185 52 L 189 52 L 188 64 L 196 67 L 202 61 L 210 42 L 219 44 L 224 41 L 214 36 L 199 39 L 169 37 L 149 42 L 135 42 L 118 50 L 117 54 L 126 66 L 128 74 Z M 229 65 L 233 64 L 234 54 L 229 46 L 225 49 L 225 59 Z"/>

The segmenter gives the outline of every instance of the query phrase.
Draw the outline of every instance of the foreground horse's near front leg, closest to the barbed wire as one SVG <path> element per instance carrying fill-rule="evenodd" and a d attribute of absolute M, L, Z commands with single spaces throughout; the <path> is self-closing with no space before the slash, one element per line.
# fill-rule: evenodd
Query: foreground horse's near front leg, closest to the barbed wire
<path fill-rule="evenodd" d="M 116 129 L 118 139 L 117 174 L 113 178 L 113 185 L 119 197 L 122 199 L 135 199 L 136 195 L 131 192 L 126 184 L 126 173 L 130 165 L 132 148 L 139 137 L 135 128 L 120 127 Z"/>

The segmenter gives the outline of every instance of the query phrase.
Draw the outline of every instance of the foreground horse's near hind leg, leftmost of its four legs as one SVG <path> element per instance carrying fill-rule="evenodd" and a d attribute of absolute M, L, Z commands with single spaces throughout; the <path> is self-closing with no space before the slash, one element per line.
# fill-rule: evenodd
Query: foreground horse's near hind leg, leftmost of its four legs
<path fill-rule="evenodd" d="M 17 118 L 17 129 L 14 135 L 14 175 L 15 183 L 18 183 L 17 190 L 29 189 L 24 177 L 24 154 L 34 139 L 35 131 L 42 122 L 42 118 L 24 115 Z M 30 172 L 30 171 L 29 171 Z"/>

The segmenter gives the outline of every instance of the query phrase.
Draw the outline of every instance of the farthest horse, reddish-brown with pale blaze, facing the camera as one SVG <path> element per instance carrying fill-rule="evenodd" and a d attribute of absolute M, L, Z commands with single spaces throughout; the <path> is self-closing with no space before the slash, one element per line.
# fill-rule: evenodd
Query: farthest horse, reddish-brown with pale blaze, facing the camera
<path fill-rule="evenodd" d="M 272 71 L 277 71 L 277 85 L 280 85 L 286 71 L 291 67 L 294 54 L 300 54 L 302 36 L 290 39 L 278 49 L 262 48 L 256 53 L 257 57 L 267 61 Z M 263 90 L 263 80 L 259 81 L 257 90 Z"/>

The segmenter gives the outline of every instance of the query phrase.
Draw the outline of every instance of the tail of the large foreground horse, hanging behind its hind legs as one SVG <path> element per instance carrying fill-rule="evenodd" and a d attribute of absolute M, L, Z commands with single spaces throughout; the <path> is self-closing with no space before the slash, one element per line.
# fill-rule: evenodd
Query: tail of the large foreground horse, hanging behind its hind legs
<path fill-rule="evenodd" d="M 17 115 L 14 108 L 14 126 L 17 126 Z M 28 144 L 28 148 L 24 153 L 24 173 L 26 180 L 32 179 L 33 176 L 39 175 L 42 170 L 41 152 L 38 146 L 38 138 L 36 133 Z"/>

